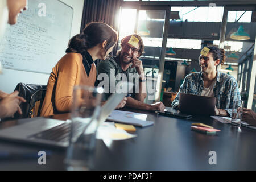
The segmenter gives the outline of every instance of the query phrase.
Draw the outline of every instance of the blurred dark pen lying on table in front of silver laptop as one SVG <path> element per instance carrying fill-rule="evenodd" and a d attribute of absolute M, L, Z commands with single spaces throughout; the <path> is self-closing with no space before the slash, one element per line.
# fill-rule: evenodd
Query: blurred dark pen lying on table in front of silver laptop
<path fill-rule="evenodd" d="M 46 152 L 46 157 L 51 156 L 51 152 Z M 40 155 L 38 152 L 7 152 L 0 151 L 0 160 L 24 160 L 24 159 L 38 159 Z"/>

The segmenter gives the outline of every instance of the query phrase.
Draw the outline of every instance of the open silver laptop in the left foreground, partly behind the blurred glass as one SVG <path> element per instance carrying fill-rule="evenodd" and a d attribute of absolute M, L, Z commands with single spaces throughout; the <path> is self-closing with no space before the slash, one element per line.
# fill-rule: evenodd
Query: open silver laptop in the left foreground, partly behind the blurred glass
<path fill-rule="evenodd" d="M 119 82 L 120 85 L 127 84 L 128 91 L 133 89 L 131 82 Z M 99 117 L 99 125 L 104 122 L 109 114 L 123 100 L 127 93 L 114 93 L 102 106 Z M 69 146 L 69 133 L 71 121 L 61 121 L 44 117 L 19 119 L 20 125 L 0 130 L 0 139 L 12 140 L 15 142 L 26 142 L 46 145 L 58 148 Z M 27 121 L 27 122 L 26 122 Z M 84 123 L 77 123 L 72 131 L 77 137 L 84 131 Z"/>

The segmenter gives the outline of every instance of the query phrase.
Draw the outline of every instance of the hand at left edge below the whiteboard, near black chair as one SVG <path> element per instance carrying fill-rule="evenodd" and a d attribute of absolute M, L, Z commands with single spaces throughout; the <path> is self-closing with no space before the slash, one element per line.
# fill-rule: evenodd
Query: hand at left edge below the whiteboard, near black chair
<path fill-rule="evenodd" d="M 16 111 L 22 114 L 19 105 L 21 102 L 26 102 L 23 97 L 18 96 L 19 92 L 15 91 L 0 101 L 0 117 L 11 117 Z"/>

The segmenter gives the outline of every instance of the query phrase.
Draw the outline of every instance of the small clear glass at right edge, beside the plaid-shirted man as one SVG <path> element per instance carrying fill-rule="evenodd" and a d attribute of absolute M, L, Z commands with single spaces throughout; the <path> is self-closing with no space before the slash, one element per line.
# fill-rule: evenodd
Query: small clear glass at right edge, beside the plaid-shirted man
<path fill-rule="evenodd" d="M 233 109 L 231 116 L 231 124 L 241 127 L 242 113 L 243 113 L 244 101 L 233 101 Z"/>

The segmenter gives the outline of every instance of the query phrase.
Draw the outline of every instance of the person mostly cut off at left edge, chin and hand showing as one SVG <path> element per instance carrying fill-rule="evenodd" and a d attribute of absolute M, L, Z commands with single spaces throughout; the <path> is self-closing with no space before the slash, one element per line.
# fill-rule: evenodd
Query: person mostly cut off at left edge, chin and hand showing
<path fill-rule="evenodd" d="M 18 14 L 27 9 L 27 0 L 1 0 L 0 1 L 0 40 L 6 31 L 6 25 L 15 24 L 17 22 Z M 2 73 L 2 66 L 0 63 L 0 73 Z M 19 105 L 21 102 L 26 102 L 23 97 L 18 96 L 19 92 L 15 91 L 7 94 L 0 90 L 0 119 L 11 117 L 18 111 L 22 114 Z"/>

